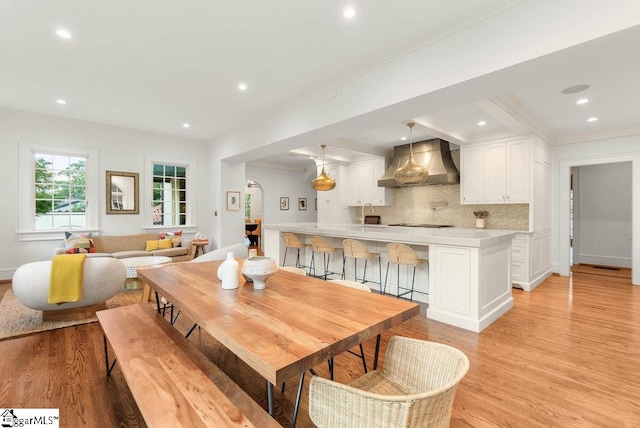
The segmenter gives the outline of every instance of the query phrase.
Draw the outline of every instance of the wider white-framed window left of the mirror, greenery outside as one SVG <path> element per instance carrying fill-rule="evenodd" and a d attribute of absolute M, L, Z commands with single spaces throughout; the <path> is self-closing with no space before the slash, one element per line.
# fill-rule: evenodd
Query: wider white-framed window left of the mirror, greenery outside
<path fill-rule="evenodd" d="M 97 196 L 97 157 L 85 149 L 21 143 L 21 232 L 95 229 L 98 207 L 90 201 Z"/>

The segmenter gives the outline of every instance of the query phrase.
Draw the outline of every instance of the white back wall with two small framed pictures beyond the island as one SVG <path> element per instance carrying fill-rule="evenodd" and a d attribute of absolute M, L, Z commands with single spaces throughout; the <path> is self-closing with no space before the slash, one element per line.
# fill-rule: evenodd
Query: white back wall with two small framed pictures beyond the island
<path fill-rule="evenodd" d="M 311 187 L 313 172 L 290 171 L 259 166 L 246 166 L 246 179 L 260 184 L 262 196 L 262 224 L 315 222 L 316 191 Z M 289 198 L 289 209 L 280 209 L 280 198 Z M 298 209 L 298 198 L 307 198 L 307 209 Z"/>

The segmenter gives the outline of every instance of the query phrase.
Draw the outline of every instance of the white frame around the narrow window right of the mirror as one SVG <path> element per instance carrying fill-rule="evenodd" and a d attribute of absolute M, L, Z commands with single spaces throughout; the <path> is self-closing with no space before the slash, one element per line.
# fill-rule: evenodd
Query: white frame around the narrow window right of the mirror
<path fill-rule="evenodd" d="M 186 205 L 187 215 L 185 225 L 155 225 L 153 224 L 153 165 L 173 165 L 186 169 Z M 146 230 L 191 230 L 197 228 L 195 205 L 193 201 L 197 201 L 196 196 L 196 162 L 175 158 L 164 158 L 156 156 L 145 157 L 145 177 L 144 189 L 141 193 L 144 195 L 143 215 Z"/>

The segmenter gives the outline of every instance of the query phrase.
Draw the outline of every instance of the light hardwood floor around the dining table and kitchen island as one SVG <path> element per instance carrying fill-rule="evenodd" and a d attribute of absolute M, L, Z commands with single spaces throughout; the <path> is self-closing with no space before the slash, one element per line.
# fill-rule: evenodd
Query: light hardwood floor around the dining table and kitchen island
<path fill-rule="evenodd" d="M 476 334 L 423 313 L 383 335 L 447 343 L 471 362 L 454 403 L 452 427 L 640 426 L 640 287 L 629 279 L 574 273 L 533 292 L 513 290 L 515 306 Z M 179 319 L 186 330 L 189 321 Z M 132 326 L 135 328 L 135 326 Z M 264 380 L 204 333 L 191 340 L 266 406 Z M 365 344 L 372 359 L 373 341 Z M 116 369 L 105 377 L 97 323 L 0 341 L 0 407 L 59 407 L 61 426 L 144 426 Z M 384 354 L 383 354 L 384 356 Z M 318 367 L 326 376 L 326 365 Z M 362 367 L 336 358 L 336 380 Z M 288 425 L 297 379 L 276 392 L 277 420 Z M 307 396 L 298 426 L 312 426 Z"/>

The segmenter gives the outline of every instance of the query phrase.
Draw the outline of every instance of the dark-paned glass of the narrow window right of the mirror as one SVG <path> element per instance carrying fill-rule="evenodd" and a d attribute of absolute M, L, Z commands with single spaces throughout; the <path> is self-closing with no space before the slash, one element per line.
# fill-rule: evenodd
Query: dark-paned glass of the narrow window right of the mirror
<path fill-rule="evenodd" d="M 153 163 L 153 224 L 187 224 L 187 167 Z"/>

